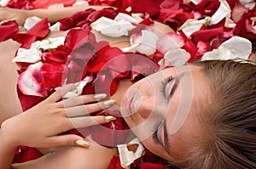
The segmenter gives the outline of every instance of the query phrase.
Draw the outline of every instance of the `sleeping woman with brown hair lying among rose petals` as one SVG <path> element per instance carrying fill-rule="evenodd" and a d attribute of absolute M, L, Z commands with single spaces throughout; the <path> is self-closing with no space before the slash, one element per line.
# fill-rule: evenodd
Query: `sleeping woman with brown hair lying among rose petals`
<path fill-rule="evenodd" d="M 172 31 L 165 25 L 159 29 Z M 58 32 L 57 36 L 62 33 L 66 32 Z M 98 41 L 102 38 L 96 34 Z M 122 39 L 112 45 L 124 47 L 127 43 Z M 105 93 L 60 101 L 77 86 L 70 84 L 20 114 L 15 88 L 18 75 L 11 62 L 19 46 L 12 40 L 1 44 L 0 92 L 6 96 L 0 103 L 3 168 L 108 168 L 113 155 L 118 154 L 116 148 L 60 133 L 115 121 L 111 115 L 88 114 L 116 108 L 143 146 L 172 164 L 171 168 L 256 166 L 255 65 L 214 60 L 167 67 L 137 82 L 119 79 L 115 93 L 107 101 L 102 101 Z M 15 148 L 20 145 L 38 148 L 44 155 L 11 164 Z"/>

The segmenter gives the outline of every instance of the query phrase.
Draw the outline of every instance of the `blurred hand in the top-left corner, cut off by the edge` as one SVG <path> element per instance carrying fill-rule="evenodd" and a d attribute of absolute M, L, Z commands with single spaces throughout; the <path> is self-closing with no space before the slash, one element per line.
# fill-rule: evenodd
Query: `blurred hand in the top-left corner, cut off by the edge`
<path fill-rule="evenodd" d="M 9 20 L 16 20 L 18 25 L 24 25 L 27 13 L 26 10 L 0 7 L 0 25 Z"/>

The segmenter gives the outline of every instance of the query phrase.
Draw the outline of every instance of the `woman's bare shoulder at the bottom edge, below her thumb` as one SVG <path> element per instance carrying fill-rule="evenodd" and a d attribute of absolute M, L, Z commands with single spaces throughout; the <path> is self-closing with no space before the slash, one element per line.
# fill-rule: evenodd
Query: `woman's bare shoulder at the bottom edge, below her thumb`
<path fill-rule="evenodd" d="M 14 169 L 106 169 L 116 149 L 108 149 L 90 141 L 90 147 L 76 146 L 54 148 L 52 152 L 35 161 L 15 164 Z"/>

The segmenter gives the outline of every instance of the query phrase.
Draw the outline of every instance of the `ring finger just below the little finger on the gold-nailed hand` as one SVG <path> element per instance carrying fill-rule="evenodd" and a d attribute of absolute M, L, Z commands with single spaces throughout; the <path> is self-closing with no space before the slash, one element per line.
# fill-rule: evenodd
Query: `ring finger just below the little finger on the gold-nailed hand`
<path fill-rule="evenodd" d="M 107 94 L 100 93 L 100 94 L 88 94 L 83 96 L 77 96 L 70 99 L 65 99 L 57 103 L 58 107 L 73 107 L 80 104 L 88 104 L 91 102 L 96 102 L 100 99 L 104 99 L 107 97 Z"/>

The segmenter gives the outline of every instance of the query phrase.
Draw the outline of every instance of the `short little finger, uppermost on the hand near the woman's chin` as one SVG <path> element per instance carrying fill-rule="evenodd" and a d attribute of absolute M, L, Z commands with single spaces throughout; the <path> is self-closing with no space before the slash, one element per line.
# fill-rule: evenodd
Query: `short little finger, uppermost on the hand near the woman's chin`
<path fill-rule="evenodd" d="M 65 95 L 67 92 L 69 91 L 73 91 L 74 89 L 76 89 L 76 85 L 71 83 L 71 84 L 67 84 L 64 87 L 58 88 L 55 93 L 52 93 L 49 98 L 47 100 L 49 100 L 50 102 L 56 102 L 58 100 L 60 100 L 62 98 L 63 95 Z"/>

